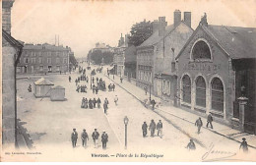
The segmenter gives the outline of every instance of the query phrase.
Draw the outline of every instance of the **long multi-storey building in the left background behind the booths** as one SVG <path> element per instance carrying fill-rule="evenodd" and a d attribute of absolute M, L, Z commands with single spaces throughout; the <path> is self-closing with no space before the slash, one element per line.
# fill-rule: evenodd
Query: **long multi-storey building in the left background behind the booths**
<path fill-rule="evenodd" d="M 44 44 L 25 44 L 17 67 L 18 74 L 69 72 L 70 48 Z"/>

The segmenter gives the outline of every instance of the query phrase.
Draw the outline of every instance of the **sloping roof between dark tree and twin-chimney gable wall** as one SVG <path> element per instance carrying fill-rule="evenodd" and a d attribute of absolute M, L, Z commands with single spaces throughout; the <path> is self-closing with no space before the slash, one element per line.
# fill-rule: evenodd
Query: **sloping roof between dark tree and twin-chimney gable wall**
<path fill-rule="evenodd" d="M 164 37 L 172 30 L 174 29 L 173 25 L 165 27 L 164 31 Z M 138 47 L 144 47 L 144 46 L 152 46 L 156 43 L 160 42 L 160 39 L 162 39 L 162 36 L 159 35 L 159 30 L 154 32 L 147 40 L 145 40 L 140 46 Z"/>

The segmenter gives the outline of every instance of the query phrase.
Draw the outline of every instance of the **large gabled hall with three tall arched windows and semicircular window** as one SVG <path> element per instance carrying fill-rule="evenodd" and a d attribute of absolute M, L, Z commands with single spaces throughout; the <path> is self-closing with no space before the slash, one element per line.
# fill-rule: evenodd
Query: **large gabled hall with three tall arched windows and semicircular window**
<path fill-rule="evenodd" d="M 256 134 L 256 28 L 212 26 L 205 15 L 176 57 L 183 109 Z"/>

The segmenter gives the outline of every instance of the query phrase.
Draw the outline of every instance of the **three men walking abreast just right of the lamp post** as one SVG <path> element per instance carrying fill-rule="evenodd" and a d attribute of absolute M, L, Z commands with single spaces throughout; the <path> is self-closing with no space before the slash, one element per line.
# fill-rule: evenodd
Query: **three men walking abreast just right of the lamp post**
<path fill-rule="evenodd" d="M 142 125 L 142 135 L 143 138 L 146 138 L 147 134 L 148 134 L 148 128 L 149 131 L 151 132 L 151 137 L 155 137 L 155 131 L 156 129 L 158 130 L 158 137 L 162 138 L 162 123 L 161 120 L 159 121 L 159 123 L 156 125 L 154 120 L 151 120 L 151 124 L 148 127 L 147 123 L 144 122 Z"/>

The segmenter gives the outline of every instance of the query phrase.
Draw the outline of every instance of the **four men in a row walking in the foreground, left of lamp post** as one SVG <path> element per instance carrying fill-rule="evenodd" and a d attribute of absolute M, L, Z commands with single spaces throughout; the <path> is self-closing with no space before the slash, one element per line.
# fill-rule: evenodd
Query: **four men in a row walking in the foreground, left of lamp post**
<path fill-rule="evenodd" d="M 96 131 L 92 134 L 92 138 L 94 139 L 95 147 L 97 147 L 97 141 L 99 138 L 99 133 Z M 73 133 L 71 134 L 71 141 L 72 141 L 72 146 L 76 147 L 77 145 L 77 139 L 78 139 L 78 133 L 76 129 L 73 129 Z M 84 129 L 83 133 L 81 134 L 81 139 L 82 139 L 82 146 L 86 147 L 87 146 L 87 141 L 89 140 L 89 136 L 87 131 Z M 108 135 L 105 132 L 102 132 L 101 135 L 101 142 L 102 142 L 102 148 L 106 149 L 106 142 L 108 141 Z"/>

